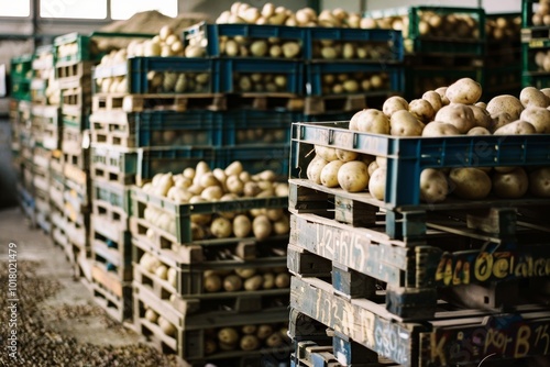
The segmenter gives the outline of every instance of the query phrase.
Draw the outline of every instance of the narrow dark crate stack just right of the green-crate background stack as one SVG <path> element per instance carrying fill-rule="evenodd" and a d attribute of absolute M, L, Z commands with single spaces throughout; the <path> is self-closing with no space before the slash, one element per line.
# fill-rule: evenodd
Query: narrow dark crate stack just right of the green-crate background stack
<path fill-rule="evenodd" d="M 521 13 L 486 14 L 483 100 L 521 90 Z"/>

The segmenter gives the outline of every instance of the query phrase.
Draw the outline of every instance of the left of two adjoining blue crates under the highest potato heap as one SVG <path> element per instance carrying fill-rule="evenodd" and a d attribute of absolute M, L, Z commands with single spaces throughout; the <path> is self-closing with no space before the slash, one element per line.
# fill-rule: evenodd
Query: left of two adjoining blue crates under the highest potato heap
<path fill-rule="evenodd" d="M 285 42 L 297 42 L 300 46 L 300 53 L 296 55 L 296 59 L 304 57 L 304 51 L 307 43 L 307 29 L 298 26 L 272 25 L 272 24 L 207 24 L 199 23 L 193 25 L 183 32 L 184 47 L 195 45 L 204 49 L 205 56 L 209 57 L 228 57 L 224 53 L 223 42 L 239 37 L 246 40 L 246 44 L 254 41 L 267 41 L 265 57 L 271 57 L 268 54 L 270 46 L 276 40 L 276 44 Z M 246 57 L 245 55 L 235 55 L 234 57 Z M 280 58 L 284 55 L 279 56 Z"/>

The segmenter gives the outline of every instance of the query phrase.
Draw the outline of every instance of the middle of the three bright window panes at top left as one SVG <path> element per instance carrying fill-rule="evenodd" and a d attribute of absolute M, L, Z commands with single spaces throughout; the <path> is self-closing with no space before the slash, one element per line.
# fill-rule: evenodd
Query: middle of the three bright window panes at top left
<path fill-rule="evenodd" d="M 107 0 L 41 0 L 40 16 L 106 19 Z"/>

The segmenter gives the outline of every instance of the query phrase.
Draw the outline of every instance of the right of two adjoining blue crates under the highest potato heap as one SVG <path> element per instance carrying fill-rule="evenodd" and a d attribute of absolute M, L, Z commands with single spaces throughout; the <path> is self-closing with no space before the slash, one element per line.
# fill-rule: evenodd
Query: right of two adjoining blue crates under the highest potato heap
<path fill-rule="evenodd" d="M 308 48 L 306 59 L 334 60 L 370 60 L 378 64 L 400 63 L 404 57 L 404 43 L 400 31 L 394 30 L 361 30 L 340 27 L 308 27 Z M 327 55 L 323 44 L 330 47 L 342 47 L 342 53 Z M 344 57 L 344 52 L 350 53 Z"/>

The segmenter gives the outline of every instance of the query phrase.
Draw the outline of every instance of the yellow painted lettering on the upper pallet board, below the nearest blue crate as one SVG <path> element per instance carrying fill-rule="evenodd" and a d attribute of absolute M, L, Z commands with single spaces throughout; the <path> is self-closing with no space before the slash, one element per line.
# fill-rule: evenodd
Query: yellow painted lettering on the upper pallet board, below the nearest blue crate
<path fill-rule="evenodd" d="M 550 255 L 519 252 L 444 253 L 436 270 L 437 286 L 460 286 L 550 275 Z"/>

